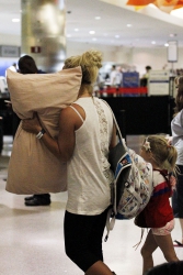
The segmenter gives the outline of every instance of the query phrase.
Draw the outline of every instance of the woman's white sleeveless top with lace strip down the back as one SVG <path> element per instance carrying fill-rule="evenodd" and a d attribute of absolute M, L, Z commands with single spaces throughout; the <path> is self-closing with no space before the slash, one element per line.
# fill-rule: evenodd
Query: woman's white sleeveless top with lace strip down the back
<path fill-rule="evenodd" d="M 66 210 L 78 215 L 100 215 L 111 204 L 114 175 L 107 162 L 113 133 L 110 108 L 99 98 L 80 98 L 75 103 L 85 112 L 76 131 L 76 146 L 68 162 L 68 201 Z"/>

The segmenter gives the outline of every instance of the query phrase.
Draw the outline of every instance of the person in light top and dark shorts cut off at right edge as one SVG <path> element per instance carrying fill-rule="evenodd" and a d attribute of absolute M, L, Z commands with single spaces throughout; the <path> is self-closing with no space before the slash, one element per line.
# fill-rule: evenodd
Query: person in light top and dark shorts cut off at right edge
<path fill-rule="evenodd" d="M 176 189 L 172 197 L 172 207 L 174 218 L 178 218 L 181 226 L 181 237 L 174 242 L 179 246 L 183 246 L 183 76 L 175 78 L 175 87 L 178 90 L 175 97 L 174 118 L 171 121 L 172 136 L 170 143 L 178 151 L 176 165 L 179 167 Z"/>

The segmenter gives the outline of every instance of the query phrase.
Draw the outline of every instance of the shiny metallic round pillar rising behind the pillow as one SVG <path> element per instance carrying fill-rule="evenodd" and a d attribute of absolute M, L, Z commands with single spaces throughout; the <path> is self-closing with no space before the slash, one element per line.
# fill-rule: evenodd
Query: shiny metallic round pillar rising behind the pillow
<path fill-rule="evenodd" d="M 66 58 L 65 0 L 21 0 L 21 56 L 31 55 L 39 69 L 58 72 Z"/>

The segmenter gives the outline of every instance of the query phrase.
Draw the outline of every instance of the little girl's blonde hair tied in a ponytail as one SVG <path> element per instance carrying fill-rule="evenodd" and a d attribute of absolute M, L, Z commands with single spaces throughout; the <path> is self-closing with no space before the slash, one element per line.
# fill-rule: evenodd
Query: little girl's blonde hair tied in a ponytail
<path fill-rule="evenodd" d="M 145 141 L 149 142 L 149 151 L 152 153 L 152 158 L 158 166 L 169 173 L 176 173 L 176 148 L 169 145 L 168 140 L 161 135 L 149 135 Z"/>

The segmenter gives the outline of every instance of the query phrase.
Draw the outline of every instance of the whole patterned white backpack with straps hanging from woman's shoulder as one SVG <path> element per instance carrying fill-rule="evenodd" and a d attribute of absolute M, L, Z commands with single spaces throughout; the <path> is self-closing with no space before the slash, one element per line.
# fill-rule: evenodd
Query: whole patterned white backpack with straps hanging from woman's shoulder
<path fill-rule="evenodd" d="M 111 110 L 112 111 L 112 110 Z M 113 111 L 112 111 L 113 113 Z M 128 148 L 113 113 L 119 142 L 111 150 L 108 162 L 114 172 L 112 208 L 106 221 L 107 240 L 115 219 L 133 219 L 147 206 L 152 193 L 152 166 Z"/>

